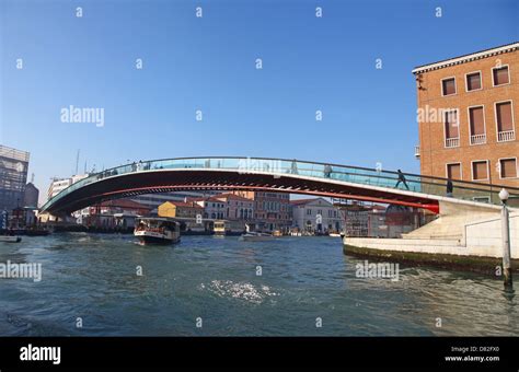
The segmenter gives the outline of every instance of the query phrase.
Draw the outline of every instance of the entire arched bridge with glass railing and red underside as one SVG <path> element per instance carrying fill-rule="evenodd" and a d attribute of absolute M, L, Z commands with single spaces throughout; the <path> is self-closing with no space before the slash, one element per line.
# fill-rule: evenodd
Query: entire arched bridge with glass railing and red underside
<path fill-rule="evenodd" d="M 49 199 L 42 212 L 70 213 L 99 202 L 142 194 L 184 190 L 251 190 L 305 194 L 393 204 L 440 212 L 457 202 L 496 209 L 503 186 L 452 181 L 392 171 L 269 158 L 176 158 L 113 167 L 83 178 Z M 507 187 L 519 200 L 519 188 Z"/>

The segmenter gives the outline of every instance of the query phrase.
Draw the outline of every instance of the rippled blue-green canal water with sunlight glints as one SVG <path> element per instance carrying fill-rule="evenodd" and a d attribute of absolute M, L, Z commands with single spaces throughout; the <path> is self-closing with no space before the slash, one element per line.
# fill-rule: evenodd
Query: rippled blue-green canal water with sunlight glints
<path fill-rule="evenodd" d="M 518 299 L 499 280 L 410 266 L 397 281 L 357 278 L 364 260 L 338 237 L 141 246 L 64 233 L 0 243 L 8 260 L 42 264 L 42 280 L 0 279 L 1 336 L 519 334 Z"/>

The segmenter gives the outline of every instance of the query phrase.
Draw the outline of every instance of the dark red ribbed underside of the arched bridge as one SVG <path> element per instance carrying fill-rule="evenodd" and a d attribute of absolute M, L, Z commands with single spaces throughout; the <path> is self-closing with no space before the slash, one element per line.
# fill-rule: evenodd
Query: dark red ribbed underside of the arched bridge
<path fill-rule="evenodd" d="M 394 204 L 438 212 L 438 201 L 423 196 L 381 190 L 355 184 L 308 179 L 292 175 L 243 174 L 227 171 L 149 171 L 104 178 L 85 185 L 56 200 L 47 212 L 70 213 L 99 202 L 142 194 L 184 190 L 255 190 Z"/>

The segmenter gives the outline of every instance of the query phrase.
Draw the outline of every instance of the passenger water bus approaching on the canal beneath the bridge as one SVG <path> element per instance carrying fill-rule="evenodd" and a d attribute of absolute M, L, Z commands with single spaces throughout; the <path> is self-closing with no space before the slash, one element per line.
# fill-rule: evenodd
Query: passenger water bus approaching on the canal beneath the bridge
<path fill-rule="evenodd" d="M 137 218 L 134 235 L 141 244 L 174 244 L 181 241 L 181 224 L 169 218 Z"/>

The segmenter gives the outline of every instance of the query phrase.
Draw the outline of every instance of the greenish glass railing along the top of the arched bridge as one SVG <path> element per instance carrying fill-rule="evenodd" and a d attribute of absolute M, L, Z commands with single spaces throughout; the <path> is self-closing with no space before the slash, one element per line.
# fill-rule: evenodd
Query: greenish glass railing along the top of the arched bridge
<path fill-rule="evenodd" d="M 113 167 L 83 178 L 49 199 L 43 210 L 66 195 L 85 185 L 118 175 L 159 170 L 222 170 L 246 173 L 268 173 L 274 177 L 299 175 L 319 179 L 342 181 L 353 184 L 388 187 L 422 194 L 447 196 L 447 179 L 440 177 L 405 174 L 405 183 L 399 183 L 399 174 L 392 171 L 347 166 L 338 164 L 314 163 L 299 160 L 267 158 L 178 158 L 138 162 Z M 452 179 L 452 197 L 458 199 L 500 204 L 498 193 L 503 186 Z M 519 188 L 506 187 L 510 199 L 519 200 Z"/>

